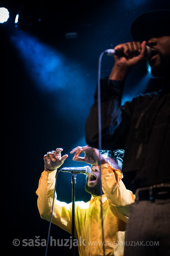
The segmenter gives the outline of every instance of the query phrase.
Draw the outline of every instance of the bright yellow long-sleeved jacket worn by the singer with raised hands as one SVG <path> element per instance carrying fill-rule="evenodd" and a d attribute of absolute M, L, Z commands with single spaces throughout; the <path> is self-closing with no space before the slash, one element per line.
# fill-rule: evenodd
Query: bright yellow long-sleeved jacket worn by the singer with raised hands
<path fill-rule="evenodd" d="M 56 171 L 44 171 L 36 191 L 40 216 L 50 221 Z M 127 190 L 120 170 L 109 162 L 101 165 L 104 195 L 92 196 L 88 202 L 75 202 L 75 236 L 80 256 L 102 256 L 101 202 L 103 208 L 104 246 L 106 256 L 122 256 L 128 220 L 128 207 L 134 195 Z M 52 223 L 71 234 L 72 203 L 60 202 L 55 195 Z"/>

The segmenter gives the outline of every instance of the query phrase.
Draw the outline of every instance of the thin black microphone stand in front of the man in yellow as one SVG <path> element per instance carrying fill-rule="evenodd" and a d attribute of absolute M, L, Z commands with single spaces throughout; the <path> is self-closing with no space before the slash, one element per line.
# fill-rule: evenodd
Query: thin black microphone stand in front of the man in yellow
<path fill-rule="evenodd" d="M 75 239 L 75 184 L 76 184 L 76 174 L 72 173 L 71 183 L 72 183 L 72 239 Z M 75 246 L 72 246 L 72 256 L 75 255 Z"/>

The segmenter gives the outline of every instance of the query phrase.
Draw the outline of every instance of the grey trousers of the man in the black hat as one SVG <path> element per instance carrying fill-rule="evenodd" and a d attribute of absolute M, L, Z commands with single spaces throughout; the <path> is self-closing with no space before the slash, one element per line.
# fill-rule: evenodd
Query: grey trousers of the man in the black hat
<path fill-rule="evenodd" d="M 170 256 L 170 199 L 130 206 L 124 256 Z"/>

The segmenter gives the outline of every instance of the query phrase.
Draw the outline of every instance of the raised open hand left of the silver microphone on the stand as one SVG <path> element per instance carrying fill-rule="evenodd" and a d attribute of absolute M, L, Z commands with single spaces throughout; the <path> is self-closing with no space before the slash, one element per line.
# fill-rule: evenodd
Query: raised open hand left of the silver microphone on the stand
<path fill-rule="evenodd" d="M 47 152 L 47 154 L 44 155 L 44 164 L 48 171 L 53 171 L 59 168 L 68 157 L 68 155 L 61 156 L 62 151 L 63 148 L 56 148 L 56 150 Z"/>

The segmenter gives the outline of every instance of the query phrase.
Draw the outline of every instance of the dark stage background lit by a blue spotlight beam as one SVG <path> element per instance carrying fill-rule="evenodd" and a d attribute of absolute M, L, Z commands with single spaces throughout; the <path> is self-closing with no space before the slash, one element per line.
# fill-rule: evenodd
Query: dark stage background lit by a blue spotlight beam
<path fill-rule="evenodd" d="M 22 245 L 23 239 L 47 238 L 49 223 L 37 208 L 36 189 L 44 169 L 43 155 L 58 147 L 72 161 L 72 148 L 85 146 L 85 122 L 93 103 L 98 60 L 107 48 L 132 41 L 130 26 L 141 13 L 170 9 L 161 0 L 1 1 L 10 18 L 0 24 L 1 91 L 1 227 L 6 255 L 45 255 L 43 246 Z M 18 27 L 15 16 L 19 13 Z M 65 34 L 76 33 L 67 39 Z M 102 58 L 101 77 L 110 74 L 113 57 Z M 159 88 L 145 63 L 129 74 L 123 101 Z M 147 85 L 147 87 L 146 87 Z M 126 177 L 124 178 L 126 183 Z M 77 175 L 76 201 L 88 201 L 85 176 Z M 58 199 L 71 202 L 71 175 L 59 173 Z M 51 226 L 54 239 L 69 234 Z M 13 240 L 21 244 L 13 246 Z M 10 252 L 10 253 L 9 253 Z M 50 246 L 48 255 L 71 254 Z"/>

